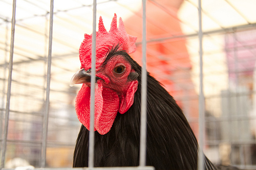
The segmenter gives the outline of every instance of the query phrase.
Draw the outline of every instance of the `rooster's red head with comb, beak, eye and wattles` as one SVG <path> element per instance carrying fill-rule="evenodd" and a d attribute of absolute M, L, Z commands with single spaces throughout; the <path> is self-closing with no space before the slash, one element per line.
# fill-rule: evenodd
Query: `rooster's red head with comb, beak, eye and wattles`
<path fill-rule="evenodd" d="M 102 135 L 110 131 L 118 112 L 123 114 L 133 105 L 138 74 L 127 56 L 136 50 L 136 39 L 126 33 L 121 18 L 117 28 L 116 14 L 109 32 L 102 18 L 99 18 L 96 32 L 94 130 Z M 79 58 L 81 69 L 73 76 L 71 85 L 83 83 L 76 97 L 76 113 L 80 122 L 90 130 L 92 35 L 84 34 Z"/>

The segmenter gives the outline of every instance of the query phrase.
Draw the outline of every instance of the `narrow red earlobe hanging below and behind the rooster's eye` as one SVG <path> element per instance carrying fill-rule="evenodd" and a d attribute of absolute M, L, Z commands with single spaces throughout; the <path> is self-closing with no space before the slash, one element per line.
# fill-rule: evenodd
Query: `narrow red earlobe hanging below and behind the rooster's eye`
<path fill-rule="evenodd" d="M 123 114 L 125 113 L 127 110 L 130 109 L 130 107 L 133 105 L 133 101 L 134 101 L 134 94 L 137 91 L 138 88 L 138 81 L 135 80 L 133 82 L 131 82 L 126 95 L 122 96 L 121 100 L 121 104 L 119 107 L 119 113 Z"/>

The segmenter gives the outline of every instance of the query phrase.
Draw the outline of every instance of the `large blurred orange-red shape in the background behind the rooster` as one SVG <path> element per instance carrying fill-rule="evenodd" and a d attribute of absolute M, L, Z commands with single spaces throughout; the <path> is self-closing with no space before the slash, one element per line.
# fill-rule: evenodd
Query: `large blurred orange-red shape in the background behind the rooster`
<path fill-rule="evenodd" d="M 147 71 L 174 96 L 187 117 L 198 118 L 198 95 L 191 81 L 192 66 L 186 39 L 180 38 L 183 33 L 177 13 L 182 2 L 183 0 L 147 1 L 146 38 L 151 41 L 146 47 Z M 137 42 L 142 40 L 141 11 L 124 21 L 126 32 L 136 36 Z M 131 57 L 142 65 L 141 43 L 137 43 L 137 50 Z M 190 123 L 190 126 L 198 136 L 198 123 Z"/>

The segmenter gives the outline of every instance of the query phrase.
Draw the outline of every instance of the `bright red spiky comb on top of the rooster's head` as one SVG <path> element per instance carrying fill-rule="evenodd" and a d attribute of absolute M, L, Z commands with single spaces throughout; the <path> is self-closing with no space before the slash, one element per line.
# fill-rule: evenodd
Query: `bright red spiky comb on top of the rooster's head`
<path fill-rule="evenodd" d="M 117 15 L 115 14 L 110 31 L 106 31 L 102 17 L 99 17 L 99 29 L 96 32 L 96 68 L 104 61 L 104 57 L 108 50 L 113 45 L 120 45 L 120 50 L 125 50 L 127 53 L 133 53 L 136 50 L 137 37 L 131 36 L 126 33 L 122 18 L 119 19 L 119 27 L 117 28 Z M 81 68 L 91 68 L 92 58 L 92 34 L 84 34 L 84 39 L 79 48 L 79 58 L 81 62 Z"/>

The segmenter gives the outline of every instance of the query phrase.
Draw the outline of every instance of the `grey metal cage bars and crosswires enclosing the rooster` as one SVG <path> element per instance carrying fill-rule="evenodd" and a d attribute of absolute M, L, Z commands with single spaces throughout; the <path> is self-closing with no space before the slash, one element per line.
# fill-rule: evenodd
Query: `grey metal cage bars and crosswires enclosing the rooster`
<path fill-rule="evenodd" d="M 153 1 L 153 0 L 152 0 Z M 226 1 L 226 0 L 225 0 Z M 154 1 L 153 1 L 154 2 Z M 189 0 L 187 0 L 187 2 L 193 4 L 192 2 L 190 2 Z M 234 8 L 234 6 L 232 6 L 232 4 L 229 3 L 229 1 L 226 1 L 233 9 L 235 9 L 236 11 L 238 11 L 238 9 Z M 156 2 L 155 2 L 156 3 Z M 140 165 L 139 167 L 110 167 L 110 168 L 99 168 L 99 167 L 94 167 L 94 131 L 90 131 L 90 147 L 89 147 L 89 167 L 88 168 L 75 168 L 75 169 L 154 169 L 154 167 L 149 167 L 149 166 L 145 166 L 145 154 L 146 154 L 146 44 L 147 43 L 151 43 L 151 42 L 156 42 L 156 41 L 172 41 L 176 38 L 190 38 L 190 37 L 199 37 L 199 59 L 200 59 L 200 95 L 199 95 L 199 145 L 200 145 L 200 150 L 199 150 L 199 163 L 198 163 L 198 169 L 202 170 L 203 169 L 203 148 L 204 148 L 204 129 L 205 129 L 205 123 L 207 122 L 221 122 L 221 121 L 225 121 L 225 120 L 230 120 L 230 117 L 226 117 L 223 120 L 211 120 L 209 118 L 205 119 L 205 95 L 204 95 L 204 83 L 203 83 L 203 37 L 204 36 L 209 36 L 212 34 L 217 34 L 217 33 L 227 33 L 227 32 L 231 32 L 234 31 L 233 27 L 232 28 L 223 28 L 220 24 L 219 26 L 221 27 L 221 29 L 219 30 L 214 30 L 214 31 L 207 31 L 207 32 L 203 32 L 202 31 L 202 13 L 208 15 L 210 17 L 209 14 L 207 14 L 204 10 L 202 10 L 201 7 L 201 0 L 198 0 L 198 16 L 199 16 L 199 32 L 195 33 L 195 34 L 189 34 L 189 35 L 174 35 L 171 37 L 165 37 L 165 38 L 156 38 L 156 39 L 150 39 L 150 40 L 146 40 L 146 15 L 145 15 L 145 9 L 146 9 L 146 1 L 142 0 L 142 7 L 143 7 L 143 39 L 142 42 L 137 42 L 137 44 L 142 43 L 142 91 L 141 91 L 141 143 L 140 143 L 140 148 L 141 148 L 141 152 L 140 152 Z M 92 78 L 91 78 L 91 83 L 92 83 L 92 87 L 95 87 L 95 43 L 96 43 L 96 0 L 94 0 L 93 3 L 93 50 L 92 50 Z M 53 56 L 51 54 L 51 48 L 52 48 L 52 32 L 53 32 L 53 0 L 51 0 L 51 6 L 50 6 L 50 28 L 49 28 L 49 48 L 48 48 L 48 62 L 47 62 L 47 87 L 46 87 L 46 111 L 44 113 L 44 115 L 38 114 L 38 116 L 44 116 L 44 131 L 43 131 L 43 137 L 42 137 L 42 145 L 41 145 L 41 167 L 42 168 L 35 168 L 35 169 L 70 169 L 70 168 L 45 168 L 46 166 L 46 148 L 47 148 L 47 132 L 48 132 L 48 121 L 49 121 L 49 105 L 50 105 L 50 75 L 51 75 L 51 65 L 52 65 L 52 59 L 55 58 L 59 58 L 62 56 Z M 164 7 L 162 7 L 164 8 Z M 5 109 L 5 126 L 4 126 L 4 137 L 2 139 L 2 159 L 1 159 L 1 168 L 4 168 L 4 163 L 5 163 L 5 154 L 6 154 L 6 146 L 7 146 L 7 142 L 10 141 L 14 141 L 14 140 L 7 140 L 7 133 L 8 133 L 8 120 L 9 120 L 9 113 L 12 112 L 12 110 L 10 110 L 10 98 L 11 98 L 11 84 L 12 82 L 15 82 L 14 80 L 12 80 L 12 66 L 13 64 L 16 64 L 16 62 L 13 63 L 13 55 L 14 55 L 14 31 L 15 31 L 15 9 L 16 9 L 16 0 L 13 0 L 13 13 L 12 13 L 12 34 L 11 34 L 11 43 L 10 43 L 10 61 L 9 61 L 9 76 L 8 76 L 8 89 L 7 89 L 7 102 L 6 102 L 6 109 Z M 72 9 L 71 9 L 72 10 Z M 164 9 L 164 10 L 168 10 L 168 9 Z M 58 11 L 59 12 L 59 11 Z M 240 13 L 238 11 L 238 13 Z M 240 13 L 241 14 L 241 13 Z M 241 14 L 241 16 L 243 16 L 243 14 Z M 36 17 L 36 16 L 35 16 Z M 243 16 L 245 18 L 245 20 L 247 20 L 247 18 L 245 16 Z M 247 20 L 248 24 L 247 25 L 242 25 L 242 26 L 237 26 L 236 29 L 237 30 L 243 30 L 243 29 L 248 29 L 248 28 L 256 28 L 256 23 L 250 23 Z M 29 29 L 29 28 L 26 28 Z M 236 31 L 236 30 L 235 30 Z M 38 34 L 41 34 L 40 32 L 37 32 Z M 235 34 L 235 33 L 234 33 Z M 234 53 L 236 53 L 234 51 Z M 71 54 L 72 55 L 72 54 Z M 67 55 L 68 56 L 68 55 Z M 236 54 L 235 54 L 236 56 Z M 30 58 L 28 58 L 27 61 L 19 61 L 18 63 L 22 63 L 22 62 L 31 62 Z M 33 61 L 36 60 L 44 60 L 43 57 L 38 57 L 37 59 L 33 59 Z M 6 64 L 5 64 L 6 65 Z M 0 65 L 0 66 L 3 66 Z M 7 80 L 5 80 L 7 81 Z M 91 120 L 90 120 L 90 124 L 93 125 L 94 124 L 94 92 L 95 89 L 91 88 Z M 238 92 L 239 94 L 236 95 L 248 95 L 246 92 Z M 255 92 L 253 92 L 253 94 L 255 95 Z M 232 95 L 232 94 L 230 94 Z M 212 96 L 214 98 L 214 96 Z M 208 96 L 209 98 L 209 96 Z M 31 113 L 28 113 L 31 114 Z M 251 117 L 254 118 L 255 117 Z M 246 117 L 243 116 L 233 116 L 232 120 L 240 120 L 240 119 L 246 119 Z M 195 120 L 197 121 L 197 120 Z M 33 141 L 31 141 L 33 143 Z M 230 143 L 236 143 L 234 141 L 229 141 Z M 244 141 L 237 141 L 240 144 L 241 143 L 245 143 L 248 144 Z M 253 143 L 254 141 L 251 141 L 251 143 Z M 207 141 L 207 143 L 210 144 L 218 144 L 219 141 Z M 241 151 L 241 148 L 240 148 Z M 241 152 L 242 153 L 242 152 Z M 243 160 L 241 161 L 243 162 Z M 241 163 L 242 166 L 245 163 Z M 249 167 L 249 166 L 246 166 Z M 253 168 L 254 166 L 252 166 Z"/>

